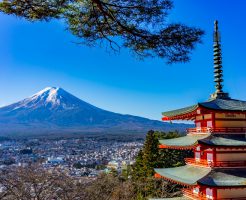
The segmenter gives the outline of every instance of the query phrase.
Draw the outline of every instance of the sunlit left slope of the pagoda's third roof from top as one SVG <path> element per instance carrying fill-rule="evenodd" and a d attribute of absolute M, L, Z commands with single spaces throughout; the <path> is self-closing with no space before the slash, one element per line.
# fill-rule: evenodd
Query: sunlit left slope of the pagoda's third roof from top
<path fill-rule="evenodd" d="M 210 171 L 211 168 L 192 165 L 155 169 L 155 172 L 164 179 L 184 185 L 196 185 L 197 181 L 206 176 Z"/>

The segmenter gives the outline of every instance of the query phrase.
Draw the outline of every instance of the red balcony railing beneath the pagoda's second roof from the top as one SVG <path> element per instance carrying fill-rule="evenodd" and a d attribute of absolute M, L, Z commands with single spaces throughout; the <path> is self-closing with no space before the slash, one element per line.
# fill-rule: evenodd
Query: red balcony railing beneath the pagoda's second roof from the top
<path fill-rule="evenodd" d="M 246 167 L 246 161 L 208 161 L 205 159 L 185 158 L 186 164 L 205 167 Z"/>

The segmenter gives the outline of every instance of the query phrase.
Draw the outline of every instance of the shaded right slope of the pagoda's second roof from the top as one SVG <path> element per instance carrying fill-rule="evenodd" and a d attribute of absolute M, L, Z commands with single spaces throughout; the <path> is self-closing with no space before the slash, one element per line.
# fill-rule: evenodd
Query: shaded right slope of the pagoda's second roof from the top
<path fill-rule="evenodd" d="M 225 135 L 210 135 L 207 138 L 201 139 L 198 141 L 199 144 L 206 144 L 210 146 L 236 146 L 243 147 L 246 146 L 246 138 L 245 134 L 242 135 L 233 135 L 233 134 L 225 134 Z"/>

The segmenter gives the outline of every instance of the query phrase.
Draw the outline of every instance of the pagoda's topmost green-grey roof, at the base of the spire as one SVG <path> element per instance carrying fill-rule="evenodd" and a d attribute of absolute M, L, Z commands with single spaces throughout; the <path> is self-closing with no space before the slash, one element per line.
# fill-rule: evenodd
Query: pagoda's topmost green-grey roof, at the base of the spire
<path fill-rule="evenodd" d="M 186 115 L 196 111 L 198 107 L 203 107 L 210 110 L 220 111 L 246 111 L 246 101 L 236 99 L 211 99 L 206 102 L 198 103 L 185 108 L 163 112 L 162 115 L 165 117 L 175 117 L 179 115 Z"/>

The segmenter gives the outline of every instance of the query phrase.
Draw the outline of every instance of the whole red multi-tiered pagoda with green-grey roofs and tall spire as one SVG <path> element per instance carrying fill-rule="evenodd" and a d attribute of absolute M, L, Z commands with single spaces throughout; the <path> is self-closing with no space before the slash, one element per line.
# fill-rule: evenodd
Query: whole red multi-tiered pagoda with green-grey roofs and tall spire
<path fill-rule="evenodd" d="M 206 102 L 162 113 L 164 121 L 195 123 L 184 137 L 160 140 L 160 148 L 194 152 L 185 166 L 155 169 L 155 177 L 184 186 L 176 199 L 246 200 L 246 101 L 223 91 L 218 21 L 214 27 L 215 93 Z"/>

